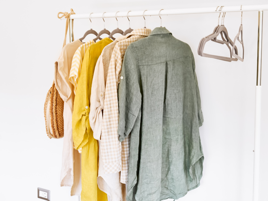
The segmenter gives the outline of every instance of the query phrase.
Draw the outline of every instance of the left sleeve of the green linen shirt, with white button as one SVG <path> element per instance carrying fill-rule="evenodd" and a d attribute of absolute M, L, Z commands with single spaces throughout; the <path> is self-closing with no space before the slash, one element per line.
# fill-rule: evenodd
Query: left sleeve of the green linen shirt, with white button
<path fill-rule="evenodd" d="M 119 123 L 117 132 L 120 142 L 131 132 L 141 108 L 142 94 L 138 67 L 138 55 L 133 44 L 130 44 L 125 53 L 118 87 Z"/>

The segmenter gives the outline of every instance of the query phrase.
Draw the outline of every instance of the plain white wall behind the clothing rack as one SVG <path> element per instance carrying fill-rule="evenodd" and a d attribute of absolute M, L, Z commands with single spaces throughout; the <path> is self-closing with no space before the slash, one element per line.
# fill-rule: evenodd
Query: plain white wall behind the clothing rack
<path fill-rule="evenodd" d="M 37 187 L 51 190 L 52 201 L 75 200 L 70 197 L 69 187 L 59 187 L 63 139 L 47 137 L 43 117 L 54 62 L 64 39 L 65 20 L 57 18 L 58 12 L 70 12 L 70 8 L 79 14 L 266 3 L 265 0 L 2 1 L 0 200 L 40 200 Z M 225 16 L 231 38 L 238 32 L 240 16 L 241 13 Z M 260 201 L 267 200 L 268 188 L 268 11 L 264 11 L 263 17 Z M 115 18 L 105 20 L 106 29 L 116 28 Z M 130 20 L 133 29 L 144 26 L 143 17 Z M 258 12 L 243 13 L 244 62 L 229 63 L 197 55 L 200 39 L 213 31 L 217 20 L 218 14 L 162 16 L 163 26 L 188 43 L 195 55 L 204 115 L 200 128 L 205 157 L 203 178 L 200 187 L 188 192 L 181 201 L 252 200 Z M 128 28 L 126 18 L 118 21 L 119 28 Z M 159 27 L 159 17 L 146 17 L 146 26 Z M 89 28 L 88 19 L 75 20 L 75 39 Z M 103 29 L 102 19 L 92 19 L 92 28 Z M 237 46 L 241 54 L 241 47 Z M 213 48 L 219 49 L 221 55 L 228 55 L 226 46 L 212 42 L 205 51 L 214 52 Z"/>

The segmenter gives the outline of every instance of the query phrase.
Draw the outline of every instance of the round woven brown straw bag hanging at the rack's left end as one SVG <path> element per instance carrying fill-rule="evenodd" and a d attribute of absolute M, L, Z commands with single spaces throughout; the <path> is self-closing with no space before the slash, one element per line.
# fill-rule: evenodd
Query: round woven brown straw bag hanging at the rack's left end
<path fill-rule="evenodd" d="M 63 129 L 63 107 L 64 101 L 59 95 L 53 82 L 49 92 L 47 92 L 44 105 L 44 117 L 46 122 L 46 132 L 49 138 L 62 138 Z"/>

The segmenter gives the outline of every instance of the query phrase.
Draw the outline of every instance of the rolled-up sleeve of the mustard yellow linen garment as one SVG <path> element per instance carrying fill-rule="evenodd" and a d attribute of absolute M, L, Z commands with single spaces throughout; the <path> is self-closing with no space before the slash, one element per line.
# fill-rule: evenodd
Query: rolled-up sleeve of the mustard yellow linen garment
<path fill-rule="evenodd" d="M 87 49 L 81 67 L 79 82 L 77 85 L 72 117 L 73 142 L 77 150 L 88 142 L 88 136 L 90 132 L 90 128 L 88 128 L 90 125 L 87 125 L 88 114 L 90 111 L 87 88 L 89 63 L 90 50 Z"/>

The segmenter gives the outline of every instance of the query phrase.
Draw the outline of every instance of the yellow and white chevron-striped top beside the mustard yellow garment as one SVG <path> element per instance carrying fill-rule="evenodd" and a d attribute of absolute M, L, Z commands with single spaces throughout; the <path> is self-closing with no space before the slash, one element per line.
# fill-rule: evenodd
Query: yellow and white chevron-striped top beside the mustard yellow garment
<path fill-rule="evenodd" d="M 87 51 L 87 48 L 94 43 L 94 40 L 90 40 L 82 45 L 79 46 L 79 48 L 76 50 L 75 54 L 73 55 L 72 60 L 72 67 L 70 70 L 70 76 L 69 80 L 70 83 L 74 86 L 74 92 L 76 92 L 77 83 L 79 80 L 80 72 L 81 72 L 81 66 L 83 63 L 85 51 Z"/>

